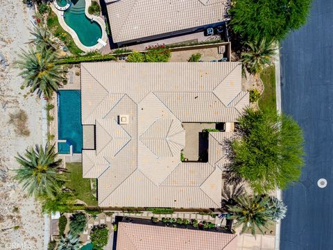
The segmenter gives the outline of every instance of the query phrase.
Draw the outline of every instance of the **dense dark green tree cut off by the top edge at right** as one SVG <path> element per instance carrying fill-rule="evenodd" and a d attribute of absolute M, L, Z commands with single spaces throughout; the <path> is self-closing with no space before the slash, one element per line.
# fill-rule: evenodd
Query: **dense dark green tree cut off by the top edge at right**
<path fill-rule="evenodd" d="M 228 14 L 232 30 L 244 41 L 282 40 L 307 22 L 311 0 L 237 0 Z"/>

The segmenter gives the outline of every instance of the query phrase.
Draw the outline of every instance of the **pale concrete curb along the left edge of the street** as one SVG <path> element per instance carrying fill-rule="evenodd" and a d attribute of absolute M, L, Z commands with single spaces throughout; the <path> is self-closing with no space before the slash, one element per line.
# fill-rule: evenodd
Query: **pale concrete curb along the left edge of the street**
<path fill-rule="evenodd" d="M 276 90 L 276 110 L 279 113 L 282 112 L 281 106 L 281 72 L 280 72 L 280 44 L 276 49 L 275 56 L 275 90 Z M 282 200 L 282 192 L 280 189 L 276 190 L 276 197 Z M 280 232 L 281 232 L 281 220 L 276 223 L 275 228 L 275 250 L 280 250 Z"/>

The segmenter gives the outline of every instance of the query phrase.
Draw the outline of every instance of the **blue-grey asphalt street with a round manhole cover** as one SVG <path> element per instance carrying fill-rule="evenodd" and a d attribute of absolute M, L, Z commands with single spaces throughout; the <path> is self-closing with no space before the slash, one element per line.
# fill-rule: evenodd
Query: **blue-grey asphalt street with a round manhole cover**
<path fill-rule="evenodd" d="M 300 183 L 282 193 L 288 206 L 281 250 L 333 249 L 333 0 L 314 0 L 309 21 L 282 42 L 282 110 L 305 135 Z M 327 179 L 318 188 L 319 178 Z"/>

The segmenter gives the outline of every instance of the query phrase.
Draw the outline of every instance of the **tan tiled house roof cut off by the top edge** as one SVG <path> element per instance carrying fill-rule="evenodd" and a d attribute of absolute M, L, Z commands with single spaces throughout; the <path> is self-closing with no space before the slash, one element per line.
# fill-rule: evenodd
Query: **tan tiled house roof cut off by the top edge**
<path fill-rule="evenodd" d="M 226 0 L 105 0 L 113 42 L 223 22 Z"/>

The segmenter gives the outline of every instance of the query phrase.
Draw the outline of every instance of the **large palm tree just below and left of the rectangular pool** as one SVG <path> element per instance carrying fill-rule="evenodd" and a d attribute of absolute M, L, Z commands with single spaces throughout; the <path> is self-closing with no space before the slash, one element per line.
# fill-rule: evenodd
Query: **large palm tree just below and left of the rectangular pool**
<path fill-rule="evenodd" d="M 65 177 L 59 174 L 61 159 L 56 160 L 57 155 L 54 145 L 49 144 L 45 149 L 38 145 L 35 149 L 28 148 L 24 156 L 18 154 L 16 160 L 22 167 L 15 170 L 15 179 L 22 183 L 23 190 L 28 190 L 29 196 L 54 199 L 61 191 L 60 185 Z"/>

